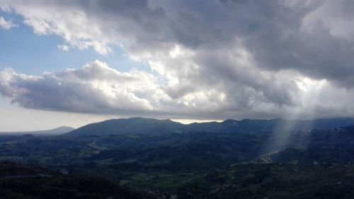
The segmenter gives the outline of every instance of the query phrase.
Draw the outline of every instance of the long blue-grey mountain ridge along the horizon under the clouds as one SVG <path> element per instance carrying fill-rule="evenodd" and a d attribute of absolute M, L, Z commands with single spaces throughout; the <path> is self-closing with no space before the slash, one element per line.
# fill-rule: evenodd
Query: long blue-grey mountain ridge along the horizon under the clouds
<path fill-rule="evenodd" d="M 273 132 L 327 130 L 333 127 L 354 125 L 354 118 L 334 118 L 316 120 L 224 120 L 221 123 L 191 123 L 183 125 L 172 120 L 151 118 L 127 118 L 105 120 L 79 127 L 65 136 L 82 135 L 122 135 L 122 134 L 159 134 L 171 132 Z"/>

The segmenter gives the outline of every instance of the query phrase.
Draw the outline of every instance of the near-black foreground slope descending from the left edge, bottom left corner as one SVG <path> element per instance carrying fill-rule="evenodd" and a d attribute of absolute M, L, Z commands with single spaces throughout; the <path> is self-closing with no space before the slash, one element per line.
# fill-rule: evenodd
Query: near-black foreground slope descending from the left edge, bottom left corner
<path fill-rule="evenodd" d="M 0 163 L 2 199 L 135 199 L 153 198 L 105 178 L 50 171 L 35 166 Z"/>

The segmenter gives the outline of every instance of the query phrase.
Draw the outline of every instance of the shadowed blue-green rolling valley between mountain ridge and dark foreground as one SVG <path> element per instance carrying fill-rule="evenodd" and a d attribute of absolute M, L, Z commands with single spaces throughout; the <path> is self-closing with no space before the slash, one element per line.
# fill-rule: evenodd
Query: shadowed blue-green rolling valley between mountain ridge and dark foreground
<path fill-rule="evenodd" d="M 354 161 L 353 146 L 353 126 L 281 133 L 5 136 L 0 137 L 0 157 L 46 166 L 114 166 L 120 175 L 125 171 L 218 169 L 249 161 L 348 164 Z"/>

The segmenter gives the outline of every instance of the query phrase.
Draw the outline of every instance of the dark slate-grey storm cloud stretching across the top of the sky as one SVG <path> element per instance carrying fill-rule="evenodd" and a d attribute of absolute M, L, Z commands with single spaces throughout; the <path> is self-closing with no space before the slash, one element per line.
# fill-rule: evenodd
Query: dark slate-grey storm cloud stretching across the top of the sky
<path fill-rule="evenodd" d="M 98 40 L 100 44 L 97 44 L 97 50 L 122 42 L 128 53 L 144 57 L 169 50 L 176 43 L 193 50 L 217 50 L 220 47 L 232 47 L 235 45 L 234 40 L 239 40 L 252 53 L 257 67 L 261 69 L 295 69 L 316 79 L 329 79 L 348 87 L 354 86 L 350 78 L 354 73 L 351 64 L 354 61 L 354 40 L 333 37 L 328 25 L 323 25 L 326 22 L 321 21 L 321 17 L 326 19 L 326 14 L 338 21 L 354 17 L 349 12 L 352 6 L 350 1 L 336 1 L 336 11 L 325 9 L 317 15 L 317 21 L 307 24 L 304 24 L 304 18 L 331 5 L 323 1 L 314 1 L 312 4 L 300 1 L 293 5 L 286 4 L 287 1 L 233 2 L 122 0 L 79 1 L 73 3 L 74 6 L 41 6 L 43 9 L 59 6 L 59 10 L 82 11 L 91 23 L 86 25 L 93 25 L 93 29 L 96 25 L 101 32 L 74 41 Z M 24 8 L 31 8 L 32 5 L 27 3 L 26 6 L 14 7 L 18 13 L 30 19 L 33 16 Z M 45 20 L 55 28 L 55 21 L 50 21 L 50 18 Z M 80 34 L 81 30 L 77 27 L 71 30 L 72 25 L 67 21 L 64 21 L 64 25 L 70 25 L 68 32 Z M 312 27 L 312 31 L 306 30 L 306 25 Z M 75 38 L 75 32 L 71 37 Z M 95 44 L 86 42 L 86 45 Z"/>

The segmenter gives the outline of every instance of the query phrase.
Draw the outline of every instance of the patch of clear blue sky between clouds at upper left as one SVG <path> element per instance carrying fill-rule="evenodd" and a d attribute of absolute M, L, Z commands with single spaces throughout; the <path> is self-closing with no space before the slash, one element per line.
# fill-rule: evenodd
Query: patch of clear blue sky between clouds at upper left
<path fill-rule="evenodd" d="M 43 72 L 62 72 L 67 68 L 78 69 L 88 62 L 98 59 L 109 67 L 127 72 L 132 68 L 150 71 L 146 62 L 136 62 L 127 57 L 120 47 L 111 46 L 113 52 L 100 55 L 91 48 L 79 50 L 70 48 L 68 52 L 58 49 L 65 45 L 57 35 L 36 35 L 25 25 L 21 16 L 4 13 L 0 16 L 18 24 L 17 28 L 0 28 L 0 69 L 12 68 L 18 73 L 38 75 Z"/>

